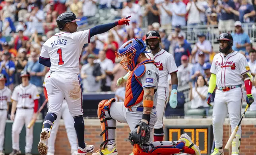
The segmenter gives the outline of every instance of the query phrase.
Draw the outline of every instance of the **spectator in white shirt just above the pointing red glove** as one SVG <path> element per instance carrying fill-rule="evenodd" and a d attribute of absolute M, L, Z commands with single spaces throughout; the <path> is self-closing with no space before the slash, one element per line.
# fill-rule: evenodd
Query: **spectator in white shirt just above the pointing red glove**
<path fill-rule="evenodd" d="M 139 27 L 142 27 L 142 10 L 139 4 L 135 4 L 133 0 L 126 0 L 126 7 L 122 9 L 122 18 L 131 16 L 130 21 L 136 21 Z M 127 26 L 126 26 L 127 27 Z M 127 28 L 129 28 L 128 26 Z"/>

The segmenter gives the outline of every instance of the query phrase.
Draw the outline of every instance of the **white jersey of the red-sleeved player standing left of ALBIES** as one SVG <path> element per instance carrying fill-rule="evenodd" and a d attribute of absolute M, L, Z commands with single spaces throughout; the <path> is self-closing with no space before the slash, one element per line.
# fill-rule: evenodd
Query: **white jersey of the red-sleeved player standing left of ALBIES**
<path fill-rule="evenodd" d="M 39 98 L 37 87 L 31 83 L 26 87 L 17 85 L 12 93 L 12 100 L 17 101 L 17 108 L 34 108 L 34 100 Z"/>

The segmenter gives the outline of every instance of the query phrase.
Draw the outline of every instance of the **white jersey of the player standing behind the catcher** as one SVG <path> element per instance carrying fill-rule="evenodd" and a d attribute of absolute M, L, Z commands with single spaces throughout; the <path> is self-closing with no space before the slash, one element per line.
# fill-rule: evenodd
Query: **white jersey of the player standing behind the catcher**
<path fill-rule="evenodd" d="M 149 50 L 150 52 L 150 50 Z M 168 87 L 168 75 L 177 72 L 178 68 L 171 53 L 161 49 L 158 53 L 145 53 L 148 59 L 154 60 L 159 73 L 158 87 Z"/>

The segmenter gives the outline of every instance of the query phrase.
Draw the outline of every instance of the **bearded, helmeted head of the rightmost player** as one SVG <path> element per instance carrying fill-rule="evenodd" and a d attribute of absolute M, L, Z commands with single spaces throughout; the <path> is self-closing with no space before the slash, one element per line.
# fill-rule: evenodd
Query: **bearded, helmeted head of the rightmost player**
<path fill-rule="evenodd" d="M 217 39 L 217 42 L 219 42 L 219 52 L 231 53 L 233 51 L 233 37 L 231 36 L 231 34 L 222 33 L 221 35 L 219 35 L 219 39 Z M 227 45 L 225 45 L 225 42 L 227 42 Z"/>

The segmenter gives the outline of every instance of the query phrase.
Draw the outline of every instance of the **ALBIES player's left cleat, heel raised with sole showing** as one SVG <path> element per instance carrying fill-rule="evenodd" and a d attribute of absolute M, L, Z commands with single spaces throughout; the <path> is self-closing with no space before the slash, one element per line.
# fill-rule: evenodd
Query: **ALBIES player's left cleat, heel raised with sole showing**
<path fill-rule="evenodd" d="M 40 155 L 47 154 L 47 141 L 48 141 L 49 133 L 47 130 L 43 130 L 40 134 L 40 142 L 37 146 L 38 152 Z"/>

